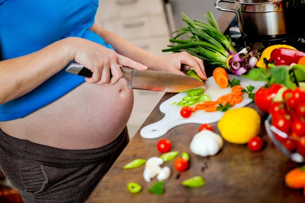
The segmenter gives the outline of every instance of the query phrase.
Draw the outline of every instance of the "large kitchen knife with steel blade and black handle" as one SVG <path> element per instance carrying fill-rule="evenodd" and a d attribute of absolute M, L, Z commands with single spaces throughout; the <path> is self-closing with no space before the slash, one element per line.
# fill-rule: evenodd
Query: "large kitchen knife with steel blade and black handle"
<path fill-rule="evenodd" d="M 129 89 L 182 92 L 204 86 L 204 83 L 201 81 L 186 75 L 153 70 L 139 71 L 123 66 L 120 69 Z M 87 78 L 92 77 L 93 74 L 86 67 L 78 63 L 71 63 L 66 68 L 66 72 Z"/>

